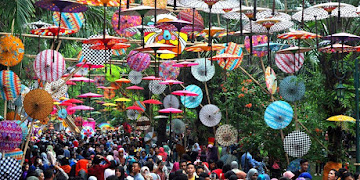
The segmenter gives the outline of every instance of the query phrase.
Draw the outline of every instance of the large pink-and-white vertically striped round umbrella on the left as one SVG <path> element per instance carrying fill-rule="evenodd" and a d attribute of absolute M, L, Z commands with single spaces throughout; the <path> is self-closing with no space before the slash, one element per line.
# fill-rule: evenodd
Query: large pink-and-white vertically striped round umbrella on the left
<path fill-rule="evenodd" d="M 63 56 L 55 50 L 41 51 L 35 58 L 33 64 L 36 76 L 47 82 L 56 81 L 65 72 L 65 60 Z"/>

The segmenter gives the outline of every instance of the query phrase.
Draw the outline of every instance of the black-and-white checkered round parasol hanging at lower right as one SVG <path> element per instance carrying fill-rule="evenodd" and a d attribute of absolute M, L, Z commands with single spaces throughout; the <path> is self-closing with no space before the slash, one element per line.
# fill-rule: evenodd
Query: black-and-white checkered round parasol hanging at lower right
<path fill-rule="evenodd" d="M 301 131 L 293 131 L 284 139 L 284 150 L 289 156 L 302 157 L 310 149 L 310 137 Z"/>

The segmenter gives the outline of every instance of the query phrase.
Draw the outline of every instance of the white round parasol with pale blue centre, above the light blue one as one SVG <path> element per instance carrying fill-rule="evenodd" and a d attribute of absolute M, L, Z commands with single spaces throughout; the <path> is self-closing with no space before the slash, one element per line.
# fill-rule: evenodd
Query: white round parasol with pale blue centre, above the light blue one
<path fill-rule="evenodd" d="M 209 81 L 215 75 L 215 66 L 212 65 L 209 60 L 201 58 L 197 59 L 195 63 L 198 63 L 199 65 L 192 66 L 191 73 L 198 81 Z"/>

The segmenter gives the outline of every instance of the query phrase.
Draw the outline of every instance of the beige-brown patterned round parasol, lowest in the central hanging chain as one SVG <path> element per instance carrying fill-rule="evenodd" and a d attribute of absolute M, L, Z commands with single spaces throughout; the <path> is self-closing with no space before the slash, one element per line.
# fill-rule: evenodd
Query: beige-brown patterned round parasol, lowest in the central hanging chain
<path fill-rule="evenodd" d="M 216 130 L 215 139 L 222 146 L 230 146 L 237 142 L 237 134 L 233 126 L 224 124 Z"/>

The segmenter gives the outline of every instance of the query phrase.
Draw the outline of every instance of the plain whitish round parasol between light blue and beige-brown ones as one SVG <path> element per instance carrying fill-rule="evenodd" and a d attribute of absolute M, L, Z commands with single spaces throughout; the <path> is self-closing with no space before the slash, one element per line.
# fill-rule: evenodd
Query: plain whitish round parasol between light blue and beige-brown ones
<path fill-rule="evenodd" d="M 219 124 L 221 120 L 221 111 L 217 106 L 207 104 L 201 108 L 199 118 L 205 126 L 214 127 Z"/>

